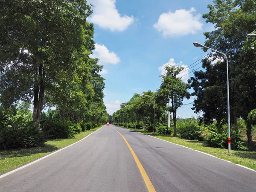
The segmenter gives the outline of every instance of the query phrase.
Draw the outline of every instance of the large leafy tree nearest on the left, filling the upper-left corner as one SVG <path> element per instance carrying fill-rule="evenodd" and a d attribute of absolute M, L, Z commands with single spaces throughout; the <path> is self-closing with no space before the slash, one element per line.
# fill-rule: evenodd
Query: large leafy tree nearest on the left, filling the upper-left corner
<path fill-rule="evenodd" d="M 73 72 L 76 53 L 94 49 L 86 21 L 92 10 L 85 0 L 1 0 L 0 7 L 0 102 L 33 98 L 38 126 L 45 90 L 59 72 Z"/>

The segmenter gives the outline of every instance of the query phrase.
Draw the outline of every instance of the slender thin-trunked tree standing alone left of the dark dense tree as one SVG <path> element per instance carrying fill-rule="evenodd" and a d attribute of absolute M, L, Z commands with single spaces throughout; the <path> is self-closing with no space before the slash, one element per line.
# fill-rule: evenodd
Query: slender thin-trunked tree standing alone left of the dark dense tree
<path fill-rule="evenodd" d="M 176 116 L 177 109 L 183 105 L 183 99 L 189 99 L 189 84 L 182 82 L 177 75 L 183 70 L 180 66 L 166 66 L 166 75 L 162 75 L 162 84 L 157 91 L 157 101 L 160 105 L 166 106 L 171 100 L 171 107 L 168 109 L 172 113 L 174 123 L 174 135 L 177 136 Z"/>

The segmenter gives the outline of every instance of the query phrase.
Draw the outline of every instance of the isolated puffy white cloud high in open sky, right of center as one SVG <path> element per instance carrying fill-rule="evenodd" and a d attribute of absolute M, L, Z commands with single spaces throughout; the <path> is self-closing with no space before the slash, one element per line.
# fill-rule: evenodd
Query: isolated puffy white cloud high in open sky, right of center
<path fill-rule="evenodd" d="M 154 28 L 162 32 L 165 38 L 172 36 L 183 36 L 188 34 L 195 34 L 202 29 L 203 23 L 199 21 L 201 15 L 194 15 L 195 8 L 189 10 L 179 9 L 174 13 L 162 13 Z"/>

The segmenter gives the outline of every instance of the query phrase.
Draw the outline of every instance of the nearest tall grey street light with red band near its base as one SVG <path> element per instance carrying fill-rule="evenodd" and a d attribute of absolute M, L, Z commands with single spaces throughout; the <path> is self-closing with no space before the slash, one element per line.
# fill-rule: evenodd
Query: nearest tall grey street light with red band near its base
<path fill-rule="evenodd" d="M 225 58 L 226 58 L 226 61 L 227 61 L 227 55 L 225 55 L 223 52 L 219 52 L 215 49 L 206 47 L 206 46 L 204 46 L 202 44 L 199 44 L 197 42 L 194 42 L 193 44 L 194 44 L 195 47 L 205 47 L 205 48 L 210 49 L 212 51 L 218 52 L 221 55 L 224 55 Z M 227 130 L 227 148 L 228 148 L 228 153 L 230 153 L 231 152 L 231 140 L 230 140 L 230 105 L 229 105 L 228 62 L 227 62 L 227 127 L 228 127 L 228 130 Z"/>

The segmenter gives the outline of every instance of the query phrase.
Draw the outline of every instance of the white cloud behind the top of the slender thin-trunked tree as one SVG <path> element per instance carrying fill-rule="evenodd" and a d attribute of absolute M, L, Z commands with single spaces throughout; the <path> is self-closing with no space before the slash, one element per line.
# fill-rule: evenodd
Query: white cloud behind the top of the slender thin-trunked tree
<path fill-rule="evenodd" d="M 163 64 L 162 66 L 158 67 L 158 70 L 161 72 L 161 75 L 166 75 L 166 70 L 165 67 L 166 66 L 181 66 L 184 67 L 186 69 L 184 69 L 183 71 L 181 71 L 177 77 L 181 77 L 182 81 L 186 81 L 189 79 L 189 67 L 187 65 L 184 65 L 182 63 L 182 61 L 180 61 L 179 63 L 175 63 L 174 58 L 170 58 L 169 62 L 166 64 Z"/>

